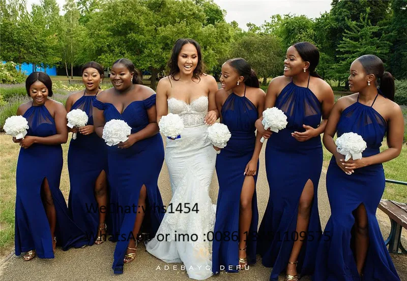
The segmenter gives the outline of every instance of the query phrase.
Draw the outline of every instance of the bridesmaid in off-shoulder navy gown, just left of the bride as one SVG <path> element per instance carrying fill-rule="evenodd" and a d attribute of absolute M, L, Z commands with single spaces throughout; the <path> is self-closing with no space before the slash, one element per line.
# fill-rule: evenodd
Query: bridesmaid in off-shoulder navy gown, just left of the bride
<path fill-rule="evenodd" d="M 101 92 L 93 102 L 93 116 L 100 137 L 105 122 L 112 119 L 123 120 L 131 127 L 126 142 L 108 147 L 110 201 L 116 205 L 114 228 L 118 232 L 113 235 L 118 242 L 112 268 L 114 273 L 123 273 L 123 264 L 135 259 L 135 238 L 141 224 L 154 237 L 164 217 L 157 184 L 164 162 L 164 146 L 156 122 L 156 94 L 141 85 L 141 75 L 133 62 L 126 58 L 115 61 L 110 81 L 113 88 Z M 125 212 L 126 209 L 131 212 Z M 143 221 L 144 215 L 147 218 Z"/>

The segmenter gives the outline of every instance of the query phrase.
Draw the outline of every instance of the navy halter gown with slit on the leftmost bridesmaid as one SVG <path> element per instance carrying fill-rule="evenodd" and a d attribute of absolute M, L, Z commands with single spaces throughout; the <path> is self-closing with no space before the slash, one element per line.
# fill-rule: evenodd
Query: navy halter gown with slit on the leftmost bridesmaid
<path fill-rule="evenodd" d="M 23 114 L 27 119 L 27 135 L 47 137 L 56 134 L 55 121 L 45 104 L 31 106 Z M 52 259 L 52 238 L 41 186 L 47 179 L 56 212 L 56 244 L 66 251 L 83 243 L 85 234 L 69 218 L 64 195 L 60 190 L 62 172 L 61 145 L 33 144 L 20 149 L 16 172 L 15 252 L 36 250 L 39 258 Z"/>

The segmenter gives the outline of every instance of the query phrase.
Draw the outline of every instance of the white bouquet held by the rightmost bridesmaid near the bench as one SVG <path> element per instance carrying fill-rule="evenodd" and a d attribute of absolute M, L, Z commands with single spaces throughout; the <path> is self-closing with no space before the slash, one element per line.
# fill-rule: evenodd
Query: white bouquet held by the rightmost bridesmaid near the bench
<path fill-rule="evenodd" d="M 345 155 L 345 161 L 362 158 L 362 152 L 366 149 L 366 142 L 357 133 L 344 133 L 335 141 L 336 151 Z"/>

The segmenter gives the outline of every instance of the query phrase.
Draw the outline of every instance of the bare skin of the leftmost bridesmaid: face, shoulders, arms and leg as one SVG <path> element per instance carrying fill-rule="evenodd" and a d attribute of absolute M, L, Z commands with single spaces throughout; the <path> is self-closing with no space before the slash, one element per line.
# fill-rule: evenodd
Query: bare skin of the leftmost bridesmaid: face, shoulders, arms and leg
<path fill-rule="evenodd" d="M 24 113 L 31 106 L 42 106 L 45 104 L 48 112 L 55 121 L 56 134 L 40 137 L 40 136 L 31 136 L 26 135 L 24 138 L 17 140 L 13 137 L 13 142 L 19 144 L 23 149 L 30 149 L 33 144 L 42 144 L 42 145 L 61 145 L 66 144 L 68 141 L 68 130 L 67 130 L 67 112 L 61 102 L 54 101 L 48 98 L 48 89 L 40 81 L 36 81 L 30 86 L 30 97 L 32 101 L 25 102 L 21 104 L 16 115 L 24 115 Z M 55 234 L 55 225 L 56 225 L 56 212 L 55 206 L 52 200 L 52 194 L 49 189 L 48 181 L 45 178 L 41 186 L 41 198 L 43 201 L 45 213 L 49 222 L 51 237 L 54 237 Z M 52 240 L 52 248 L 55 251 L 56 242 Z M 28 260 L 30 257 L 24 255 L 24 259 Z"/>

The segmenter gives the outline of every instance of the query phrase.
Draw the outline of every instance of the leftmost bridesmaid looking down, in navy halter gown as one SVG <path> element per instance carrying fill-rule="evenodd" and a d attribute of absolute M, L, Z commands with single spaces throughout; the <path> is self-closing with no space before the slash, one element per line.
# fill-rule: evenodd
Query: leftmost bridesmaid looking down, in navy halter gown
<path fill-rule="evenodd" d="M 56 245 L 63 250 L 83 243 L 84 233 L 71 221 L 60 190 L 62 147 L 68 139 L 67 112 L 52 96 L 52 82 L 43 72 L 33 72 L 25 80 L 33 100 L 21 104 L 30 128 L 20 140 L 16 173 L 15 252 L 25 261 L 35 256 L 54 258 Z"/>

